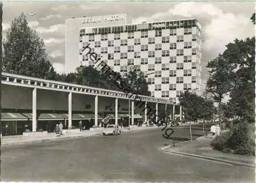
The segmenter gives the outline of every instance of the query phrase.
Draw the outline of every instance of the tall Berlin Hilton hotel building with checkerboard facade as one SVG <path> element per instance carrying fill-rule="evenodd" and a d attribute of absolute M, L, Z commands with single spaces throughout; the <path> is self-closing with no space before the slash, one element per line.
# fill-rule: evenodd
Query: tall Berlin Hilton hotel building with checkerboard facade
<path fill-rule="evenodd" d="M 133 23 L 126 14 L 66 20 L 66 73 L 94 65 L 92 51 L 113 70 L 134 65 L 145 73 L 154 97 L 178 102 L 185 90 L 201 94 L 201 25 L 194 19 Z"/>

